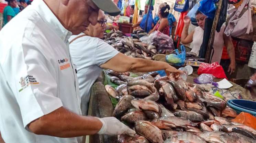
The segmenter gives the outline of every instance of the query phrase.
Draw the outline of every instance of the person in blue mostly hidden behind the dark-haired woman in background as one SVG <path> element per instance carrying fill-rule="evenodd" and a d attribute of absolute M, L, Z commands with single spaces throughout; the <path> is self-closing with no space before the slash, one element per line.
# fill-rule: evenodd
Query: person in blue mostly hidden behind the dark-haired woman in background
<path fill-rule="evenodd" d="M 161 3 L 159 5 L 159 10 L 161 10 L 161 8 L 163 8 L 164 6 L 166 6 L 167 3 Z M 176 26 L 177 25 L 177 22 L 176 22 L 176 18 L 174 17 L 174 15 L 172 13 L 169 12 L 169 15 L 167 16 L 167 19 L 168 19 L 168 23 L 169 23 L 169 26 L 170 26 L 170 35 L 171 35 L 171 29 L 172 29 L 172 26 Z M 159 16 L 155 16 L 154 18 L 154 25 L 156 26 L 157 22 L 159 20 Z"/>

